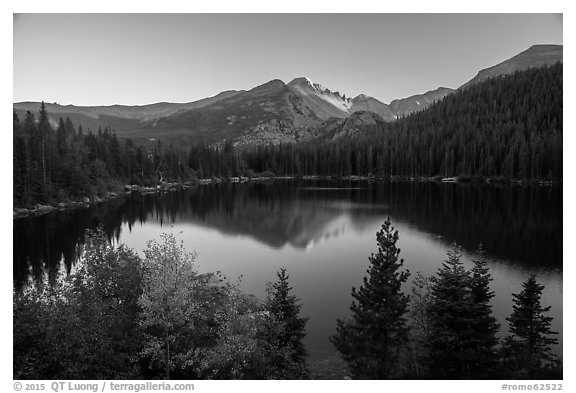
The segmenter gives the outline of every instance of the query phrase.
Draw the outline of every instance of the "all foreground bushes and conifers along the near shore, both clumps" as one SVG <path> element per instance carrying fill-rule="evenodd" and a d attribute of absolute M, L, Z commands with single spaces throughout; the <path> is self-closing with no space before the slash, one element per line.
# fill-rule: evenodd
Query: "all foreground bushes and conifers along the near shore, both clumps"
<path fill-rule="evenodd" d="M 482 253 L 467 271 L 454 245 L 436 276 L 416 275 L 408 296 L 389 219 L 376 237 L 368 276 L 352 290 L 353 319 L 338 321 L 331 338 L 353 378 L 562 378 L 535 275 L 513 295 L 510 334 L 499 340 Z M 196 273 L 196 255 L 173 235 L 144 255 L 92 232 L 72 274 L 14 290 L 14 378 L 314 377 L 301 341 L 308 318 L 285 269 L 262 302 L 219 273 Z"/>

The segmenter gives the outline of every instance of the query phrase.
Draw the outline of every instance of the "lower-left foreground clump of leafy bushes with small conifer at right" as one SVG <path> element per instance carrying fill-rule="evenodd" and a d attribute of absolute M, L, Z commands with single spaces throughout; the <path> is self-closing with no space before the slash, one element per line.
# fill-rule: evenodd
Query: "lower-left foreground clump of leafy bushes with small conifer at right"
<path fill-rule="evenodd" d="M 306 319 L 285 270 L 265 301 L 173 235 L 140 257 L 88 236 L 75 271 L 13 296 L 15 379 L 302 379 Z"/>

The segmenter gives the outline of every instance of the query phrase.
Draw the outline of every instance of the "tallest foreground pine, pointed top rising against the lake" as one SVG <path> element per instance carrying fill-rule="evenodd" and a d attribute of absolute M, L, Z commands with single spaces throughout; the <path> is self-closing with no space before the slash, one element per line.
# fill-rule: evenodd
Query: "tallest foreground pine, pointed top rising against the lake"
<path fill-rule="evenodd" d="M 408 340 L 405 314 L 409 297 L 401 286 L 409 272 L 397 248 L 398 231 L 390 219 L 376 233 L 378 253 L 368 259 L 368 277 L 352 288 L 352 320 L 338 320 L 330 341 L 340 351 L 354 378 L 388 379 L 401 376 L 399 358 Z"/>

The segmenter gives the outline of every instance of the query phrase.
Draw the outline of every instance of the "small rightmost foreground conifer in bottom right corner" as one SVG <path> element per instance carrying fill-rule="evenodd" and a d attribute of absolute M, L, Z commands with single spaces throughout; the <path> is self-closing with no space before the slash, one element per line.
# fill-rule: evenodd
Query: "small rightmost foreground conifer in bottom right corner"
<path fill-rule="evenodd" d="M 509 318 L 511 335 L 503 344 L 504 363 L 517 378 L 536 378 L 556 366 L 557 357 L 551 346 L 558 339 L 551 336 L 558 334 L 550 328 L 552 317 L 544 314 L 550 306 L 542 307 L 543 285 L 538 284 L 536 275 L 531 274 L 522 284 L 522 291 L 513 294 L 513 311 Z"/>

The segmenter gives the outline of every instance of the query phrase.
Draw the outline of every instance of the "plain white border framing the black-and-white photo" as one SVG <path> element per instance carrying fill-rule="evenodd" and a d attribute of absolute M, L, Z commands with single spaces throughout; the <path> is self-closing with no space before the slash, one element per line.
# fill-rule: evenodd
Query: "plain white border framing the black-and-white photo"
<path fill-rule="evenodd" d="M 10 80 L 12 79 L 12 62 L 6 59 L 12 58 L 8 53 L 12 53 L 12 13 L 54 13 L 54 12 L 338 12 L 338 13 L 357 13 L 357 12 L 382 12 L 382 13 L 453 13 L 453 12 L 496 12 L 496 13 L 517 13 L 517 12 L 536 12 L 536 13 L 564 13 L 564 108 L 573 108 L 574 99 L 574 78 L 573 78 L 573 41 L 572 37 L 574 17 L 573 6 L 568 1 L 502 1 L 502 0 L 487 0 L 476 2 L 470 5 L 470 2 L 463 1 L 427 1 L 427 0 L 411 0 L 408 2 L 394 2 L 393 4 L 386 4 L 384 2 L 352 2 L 352 1 L 326 1 L 326 2 L 312 2 L 310 0 L 293 0 L 290 2 L 270 2 L 270 1 L 217 1 L 217 2 L 202 2 L 197 3 L 193 1 L 162 1 L 162 2 L 121 2 L 119 0 L 99 0 L 98 2 L 91 2 L 85 4 L 81 1 L 72 0 L 58 0 L 58 1 L 10 1 L 8 4 L 2 3 L 2 19 L 0 28 L 2 34 L 0 40 L 2 41 L 2 49 L 5 54 L 4 61 L 2 62 L 3 72 L 2 83 L 4 92 L 2 102 L 2 119 L 5 124 L 3 132 L 5 138 L 11 135 L 11 126 L 8 124 L 8 119 L 11 119 L 11 105 L 12 105 L 12 92 L 13 86 Z M 41 45 L 41 43 L 39 43 Z M 568 111 L 570 115 L 571 111 Z M 570 283 L 573 277 L 572 265 L 576 263 L 575 253 L 571 249 L 574 243 L 573 236 L 575 231 L 572 225 L 575 222 L 576 216 L 574 215 L 574 207 L 571 202 L 574 201 L 574 184 L 572 176 L 575 168 L 573 154 L 574 145 L 574 120 L 571 116 L 564 117 L 564 275 L 568 278 L 566 280 Z M 12 144 L 9 139 L 2 143 L 2 151 L 0 154 L 1 163 L 0 168 L 2 171 L 2 178 L 6 185 L 11 184 L 12 180 Z M 4 250 L 12 251 L 12 230 L 9 228 L 9 223 L 12 221 L 10 216 L 9 207 L 12 205 L 12 193 L 5 187 L 2 193 L 2 247 Z M 10 274 L 4 272 L 2 274 L 2 295 L 0 297 L 0 315 L 4 317 L 4 323 L 1 325 L 2 337 L 4 337 L 3 345 L 4 350 L 0 363 L 0 372 L 2 375 L 2 391 L 11 392 L 13 390 L 12 381 L 12 324 L 9 321 L 8 315 L 12 315 L 12 302 L 11 302 L 11 288 L 12 288 L 12 274 L 11 274 L 11 255 L 4 258 L 4 269 L 10 266 Z M 564 304 L 571 305 L 574 292 L 571 285 L 568 285 L 564 292 Z M 574 322 L 574 312 L 568 306 L 564 309 L 565 326 L 572 326 Z M 573 340 L 570 330 L 564 329 L 567 333 L 564 335 L 564 391 L 576 391 L 575 387 L 571 385 L 570 380 L 574 380 L 573 375 Z M 513 381 L 506 381 L 513 383 Z M 246 392 L 266 392 L 269 393 L 270 389 L 275 392 L 290 392 L 293 393 L 297 389 L 326 389 L 327 391 L 345 392 L 352 389 L 366 389 L 376 391 L 378 389 L 386 389 L 388 391 L 397 392 L 411 392 L 411 391 L 439 391 L 439 392 L 497 392 L 501 391 L 501 381 L 196 381 L 196 391 L 246 391 Z M 517 383 L 526 383 L 517 381 Z M 46 390 L 49 391 L 49 390 Z"/>

